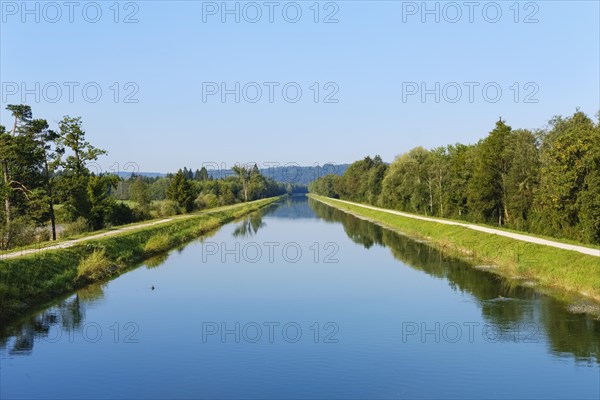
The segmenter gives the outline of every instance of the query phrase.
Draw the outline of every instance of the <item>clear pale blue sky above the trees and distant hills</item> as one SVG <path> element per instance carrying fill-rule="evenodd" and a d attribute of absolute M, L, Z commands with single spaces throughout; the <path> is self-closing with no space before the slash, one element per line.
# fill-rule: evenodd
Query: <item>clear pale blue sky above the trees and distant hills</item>
<path fill-rule="evenodd" d="M 211 14 L 220 1 L 122 2 L 115 23 L 113 3 L 98 2 L 102 16 L 91 23 L 83 8 L 93 20 L 94 6 L 80 2 L 70 23 L 66 6 L 58 18 L 56 7 L 39 2 L 36 22 L 36 2 L 27 3 L 33 14 L 23 14 L 21 1 L 1 2 L 2 124 L 11 124 L 6 105 L 21 102 L 21 88 L 11 94 L 12 82 L 25 82 L 34 92 L 39 82 L 39 101 L 27 95 L 34 116 L 53 124 L 65 114 L 81 116 L 88 139 L 109 150 L 101 160 L 104 168 L 133 162 L 142 171 L 173 171 L 202 162 L 322 165 L 367 154 L 392 161 L 418 145 L 476 142 L 499 116 L 513 127 L 535 129 L 576 107 L 590 116 L 600 109 L 598 1 L 519 2 L 518 7 L 500 1 L 494 3 L 502 12 L 496 23 L 491 21 L 497 7 L 490 2 L 477 2 L 472 22 L 464 2 L 453 3 L 462 13 L 456 23 L 451 20 L 457 9 L 448 2 L 427 2 L 430 9 L 439 7 L 439 23 L 433 14 L 422 15 L 420 1 L 320 2 L 319 23 L 313 1 L 297 2 L 302 10 L 297 23 L 284 19 L 284 5 L 285 17 L 295 17 L 289 2 L 277 2 L 272 23 L 263 1 L 255 3 L 262 12 L 256 23 L 247 21 L 256 15 L 255 7 L 244 8 L 247 2 L 238 3 L 240 23 L 233 15 L 222 23 L 221 10 Z M 131 13 L 138 22 L 123 23 Z M 323 23 L 331 13 L 339 22 Z M 51 82 L 62 86 L 61 97 Z M 65 82 L 79 83 L 72 103 Z M 83 98 L 89 82 L 103 91 L 97 103 Z M 116 103 L 114 82 L 120 86 Z M 128 82 L 135 85 L 125 88 Z M 222 103 L 220 96 L 207 95 L 204 102 L 203 82 L 230 88 L 257 82 L 262 98 L 251 103 L 240 93 L 236 103 L 231 94 Z M 264 82 L 279 83 L 272 103 Z M 296 103 L 282 96 L 288 82 L 303 91 Z M 310 89 L 314 82 L 321 86 L 318 103 Z M 328 82 L 339 88 L 333 96 L 337 103 L 323 102 L 336 87 L 324 88 Z M 434 94 L 425 102 L 419 94 L 408 95 L 415 86 L 403 82 L 425 82 L 430 89 L 439 82 L 440 102 Z M 442 93 L 449 82 L 462 88 L 456 103 L 448 101 L 457 95 L 454 84 Z M 465 82 L 479 85 L 472 102 Z M 490 82 L 502 89 L 495 103 L 482 94 Z M 138 103 L 125 103 L 136 87 Z M 247 86 L 246 95 L 254 98 L 255 87 Z M 528 95 L 537 103 L 525 102 Z"/>

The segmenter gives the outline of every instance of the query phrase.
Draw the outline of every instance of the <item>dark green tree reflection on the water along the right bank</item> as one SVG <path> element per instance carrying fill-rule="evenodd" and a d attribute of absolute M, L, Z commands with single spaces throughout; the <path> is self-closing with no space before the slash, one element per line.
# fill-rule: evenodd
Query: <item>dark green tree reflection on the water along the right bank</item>
<path fill-rule="evenodd" d="M 491 272 L 478 270 L 464 260 L 442 254 L 372 222 L 309 199 L 310 208 L 325 221 L 341 223 L 348 237 L 365 248 L 378 245 L 412 268 L 444 278 L 453 290 L 470 294 L 483 318 L 502 329 L 500 340 L 544 335 L 554 355 L 578 361 L 600 362 L 600 321 L 588 314 L 573 314 L 567 305 L 534 289 Z M 540 332 L 535 332 L 539 329 Z M 502 335 L 502 334 L 505 335 Z"/>

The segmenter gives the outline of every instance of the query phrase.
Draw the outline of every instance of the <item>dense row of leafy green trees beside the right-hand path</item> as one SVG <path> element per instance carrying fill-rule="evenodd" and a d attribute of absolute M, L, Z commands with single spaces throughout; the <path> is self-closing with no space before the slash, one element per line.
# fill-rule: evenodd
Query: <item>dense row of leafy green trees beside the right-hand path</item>
<path fill-rule="evenodd" d="M 500 119 L 476 144 L 416 147 L 389 165 L 366 157 L 309 191 L 598 244 L 600 123 L 581 111 L 536 131 Z"/>

